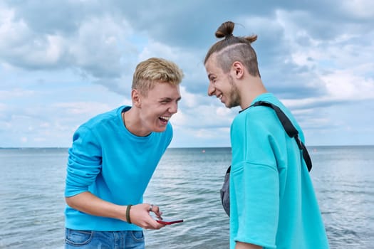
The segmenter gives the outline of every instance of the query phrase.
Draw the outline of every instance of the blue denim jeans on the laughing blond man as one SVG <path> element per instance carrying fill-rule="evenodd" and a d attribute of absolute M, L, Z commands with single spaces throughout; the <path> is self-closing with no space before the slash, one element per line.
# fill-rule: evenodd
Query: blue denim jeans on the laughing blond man
<path fill-rule="evenodd" d="M 144 249 L 142 231 L 81 231 L 66 228 L 65 248 Z"/>

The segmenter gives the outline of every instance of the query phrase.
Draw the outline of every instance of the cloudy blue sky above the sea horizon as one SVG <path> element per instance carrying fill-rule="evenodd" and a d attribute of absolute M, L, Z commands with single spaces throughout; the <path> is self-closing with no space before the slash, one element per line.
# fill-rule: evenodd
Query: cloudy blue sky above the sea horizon
<path fill-rule="evenodd" d="M 135 66 L 185 73 L 171 147 L 229 147 L 239 109 L 207 96 L 224 21 L 257 34 L 261 78 L 306 144 L 374 144 L 374 1 L 1 1 L 0 147 L 70 147 L 93 115 L 130 105 Z"/>

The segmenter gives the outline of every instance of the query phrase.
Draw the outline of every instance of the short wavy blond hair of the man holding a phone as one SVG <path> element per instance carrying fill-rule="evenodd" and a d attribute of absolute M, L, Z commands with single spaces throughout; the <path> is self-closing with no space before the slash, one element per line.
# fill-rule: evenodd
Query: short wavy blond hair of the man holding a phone
<path fill-rule="evenodd" d="M 163 58 L 149 58 L 137 64 L 131 88 L 139 90 L 142 95 L 147 95 L 155 83 L 179 85 L 183 77 L 182 70 L 172 61 Z"/>

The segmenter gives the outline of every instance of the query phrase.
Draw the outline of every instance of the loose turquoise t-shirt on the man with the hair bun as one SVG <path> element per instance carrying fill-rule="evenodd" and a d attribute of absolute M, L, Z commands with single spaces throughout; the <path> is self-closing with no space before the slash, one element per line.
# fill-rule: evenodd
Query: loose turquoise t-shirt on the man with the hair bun
<path fill-rule="evenodd" d="M 274 95 L 259 95 L 254 102 L 259 100 L 280 107 L 304 140 L 291 112 Z M 274 110 L 259 106 L 240 112 L 232 122 L 231 142 L 230 248 L 236 241 L 264 248 L 328 248 L 301 151 Z"/>

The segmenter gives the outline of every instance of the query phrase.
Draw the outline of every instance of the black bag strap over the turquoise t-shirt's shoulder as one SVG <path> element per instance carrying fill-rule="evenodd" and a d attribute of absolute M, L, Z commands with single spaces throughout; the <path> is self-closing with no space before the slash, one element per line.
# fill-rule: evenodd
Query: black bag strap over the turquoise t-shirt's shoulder
<path fill-rule="evenodd" d="M 276 105 L 271 104 L 270 102 L 257 101 L 251 106 L 255 107 L 259 105 L 270 107 L 271 109 L 275 111 L 276 116 L 278 116 L 279 121 L 283 125 L 286 133 L 289 135 L 289 137 L 295 138 L 296 143 L 298 145 L 298 149 L 301 149 L 301 151 L 303 152 L 303 159 L 306 163 L 306 166 L 308 167 L 308 171 L 311 171 L 311 168 L 312 168 L 311 157 L 309 157 L 308 150 L 306 149 L 303 142 L 301 142 L 301 140 L 298 138 L 298 130 L 294 127 L 294 124 L 292 124 L 291 120 L 289 120 L 289 118 L 284 114 L 281 108 L 279 108 Z"/>

